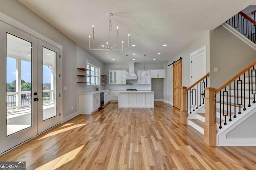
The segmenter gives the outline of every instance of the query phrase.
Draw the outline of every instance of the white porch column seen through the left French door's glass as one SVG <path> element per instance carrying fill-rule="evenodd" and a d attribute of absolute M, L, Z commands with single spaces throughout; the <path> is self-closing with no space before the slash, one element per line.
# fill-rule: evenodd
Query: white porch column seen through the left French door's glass
<path fill-rule="evenodd" d="M 16 107 L 21 109 L 21 62 L 16 59 Z"/>

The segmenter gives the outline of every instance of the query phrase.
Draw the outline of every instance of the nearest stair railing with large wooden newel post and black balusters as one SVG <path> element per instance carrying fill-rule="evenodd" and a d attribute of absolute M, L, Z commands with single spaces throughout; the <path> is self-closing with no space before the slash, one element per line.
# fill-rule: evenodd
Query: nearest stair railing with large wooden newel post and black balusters
<path fill-rule="evenodd" d="M 216 125 L 222 128 L 255 104 L 256 60 L 238 72 L 218 89 L 205 88 L 204 142 L 216 146 Z"/>

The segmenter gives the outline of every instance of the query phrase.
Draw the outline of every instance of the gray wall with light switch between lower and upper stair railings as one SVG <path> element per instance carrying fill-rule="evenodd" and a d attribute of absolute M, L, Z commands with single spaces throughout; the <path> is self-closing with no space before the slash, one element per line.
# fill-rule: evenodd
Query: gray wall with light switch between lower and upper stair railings
<path fill-rule="evenodd" d="M 210 31 L 210 80 L 218 88 L 256 59 L 256 51 L 223 26 Z M 214 72 L 218 67 L 218 72 Z"/>

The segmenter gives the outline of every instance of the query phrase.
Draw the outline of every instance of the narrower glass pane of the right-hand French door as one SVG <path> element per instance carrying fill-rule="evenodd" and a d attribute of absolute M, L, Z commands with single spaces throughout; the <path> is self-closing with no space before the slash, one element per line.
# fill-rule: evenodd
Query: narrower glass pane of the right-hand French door
<path fill-rule="evenodd" d="M 43 47 L 43 121 L 56 116 L 56 52 Z"/>

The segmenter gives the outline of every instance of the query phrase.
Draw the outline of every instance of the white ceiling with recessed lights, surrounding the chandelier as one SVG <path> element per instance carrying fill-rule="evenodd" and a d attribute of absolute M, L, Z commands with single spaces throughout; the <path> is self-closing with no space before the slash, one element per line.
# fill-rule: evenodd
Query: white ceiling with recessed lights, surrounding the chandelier
<path fill-rule="evenodd" d="M 19 1 L 103 63 L 124 62 L 126 54 L 128 61 L 135 59 L 137 63 L 144 62 L 144 54 L 147 63 L 167 61 L 206 30 L 215 29 L 248 5 L 255 4 L 254 0 Z M 130 33 L 130 48 L 124 54 L 90 51 L 88 47 L 92 25 L 95 42 L 105 45 L 108 41 L 108 12 L 114 14 L 110 45 L 116 42 L 116 26 L 119 27 L 118 48 L 122 47 L 122 40 L 126 47 Z M 133 44 L 136 46 L 132 47 Z M 91 42 L 91 48 L 99 47 Z"/>

